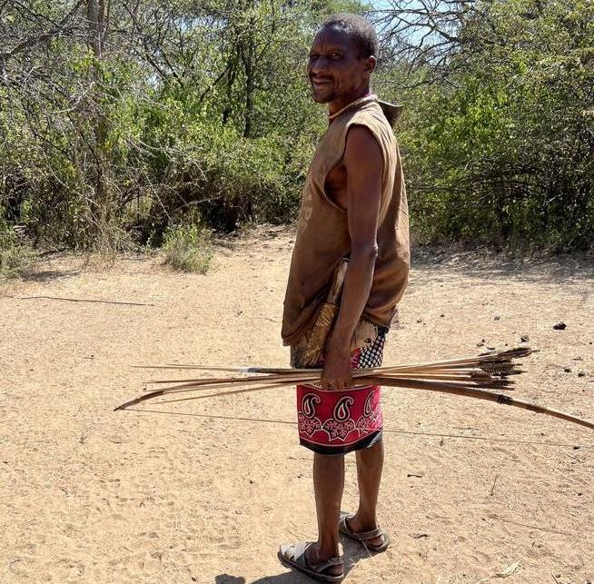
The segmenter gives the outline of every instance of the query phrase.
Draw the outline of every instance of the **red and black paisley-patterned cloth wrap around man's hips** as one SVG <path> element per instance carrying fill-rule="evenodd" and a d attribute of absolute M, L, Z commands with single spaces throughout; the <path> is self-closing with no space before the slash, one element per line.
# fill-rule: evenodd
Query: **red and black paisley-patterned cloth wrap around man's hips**
<path fill-rule="evenodd" d="M 381 331 L 370 346 L 353 351 L 351 368 L 380 367 L 385 342 Z M 320 363 L 322 366 L 323 361 Z M 319 454 L 346 454 L 381 440 L 381 387 L 367 385 L 345 391 L 297 386 L 297 422 L 302 446 Z"/>

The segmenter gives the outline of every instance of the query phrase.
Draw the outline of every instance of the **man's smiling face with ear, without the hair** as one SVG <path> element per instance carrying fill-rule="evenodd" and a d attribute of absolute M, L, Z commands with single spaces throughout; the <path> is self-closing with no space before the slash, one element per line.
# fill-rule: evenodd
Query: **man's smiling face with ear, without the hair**
<path fill-rule="evenodd" d="M 318 104 L 349 97 L 368 82 L 375 58 L 361 58 L 359 53 L 351 36 L 341 30 L 322 28 L 315 36 L 307 76 Z"/>

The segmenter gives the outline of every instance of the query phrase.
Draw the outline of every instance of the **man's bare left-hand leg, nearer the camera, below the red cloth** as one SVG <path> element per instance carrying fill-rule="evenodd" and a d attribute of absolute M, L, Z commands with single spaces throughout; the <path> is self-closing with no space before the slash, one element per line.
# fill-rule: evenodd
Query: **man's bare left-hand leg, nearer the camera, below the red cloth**
<path fill-rule="evenodd" d="M 313 455 L 313 490 L 318 516 L 318 542 L 307 551 L 310 564 L 339 555 L 338 522 L 341 517 L 342 490 L 344 490 L 344 456 Z M 341 574 L 335 566 L 330 574 Z"/>

